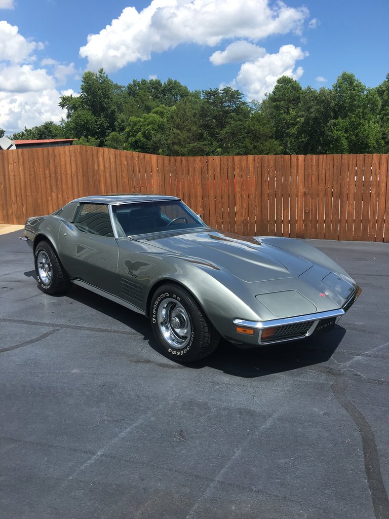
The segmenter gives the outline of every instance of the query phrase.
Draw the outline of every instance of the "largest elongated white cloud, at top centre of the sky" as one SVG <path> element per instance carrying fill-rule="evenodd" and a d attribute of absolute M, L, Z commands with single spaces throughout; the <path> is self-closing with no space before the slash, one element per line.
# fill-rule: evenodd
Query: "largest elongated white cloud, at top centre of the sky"
<path fill-rule="evenodd" d="M 301 34 L 308 17 L 306 7 L 280 1 L 270 7 L 269 0 L 152 0 L 140 12 L 123 9 L 99 34 L 89 35 L 80 56 L 88 59 L 90 69 L 112 72 L 183 43 L 215 46 L 226 38 L 256 42 L 275 34 Z"/>

